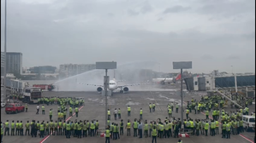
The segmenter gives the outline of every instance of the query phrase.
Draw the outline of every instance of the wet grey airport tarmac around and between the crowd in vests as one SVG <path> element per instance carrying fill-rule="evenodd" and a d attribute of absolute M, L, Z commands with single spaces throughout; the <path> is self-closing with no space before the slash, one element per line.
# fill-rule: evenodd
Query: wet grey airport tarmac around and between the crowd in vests
<path fill-rule="evenodd" d="M 134 118 L 139 118 L 140 114 L 140 108 L 143 109 L 143 120 L 151 121 L 151 120 L 157 120 L 157 118 L 164 119 L 168 116 L 167 114 L 167 104 L 170 103 L 170 101 L 176 101 L 179 104 L 181 104 L 181 99 L 178 95 L 176 95 L 176 91 L 131 91 L 127 94 L 119 94 L 115 93 L 112 96 L 108 97 L 108 107 L 111 110 L 111 123 L 120 123 L 120 119 L 114 120 L 113 116 L 113 110 L 115 108 L 121 108 L 122 111 L 122 119 L 124 120 L 124 123 L 127 123 L 127 120 L 130 119 L 134 121 Z M 192 93 L 192 94 L 186 94 L 184 98 L 184 102 L 191 100 L 191 98 L 200 99 L 201 94 L 205 94 L 203 92 L 200 93 Z M 44 96 L 59 96 L 59 97 L 84 97 L 85 98 L 85 106 L 81 107 L 79 112 L 79 117 L 71 117 L 70 120 L 74 121 L 77 120 L 92 120 L 97 119 L 99 122 L 99 129 L 104 129 L 104 96 L 101 94 L 98 94 L 97 92 L 44 92 Z M 156 103 L 156 112 L 149 112 L 148 104 L 149 103 Z M 23 104 L 24 105 L 24 104 Z M 131 117 L 127 116 L 127 106 L 131 106 Z M 186 106 L 186 105 L 184 105 Z M 40 106 L 41 107 L 41 106 Z M 22 120 L 23 123 L 27 123 L 27 121 L 32 121 L 33 119 L 36 121 L 49 121 L 49 110 L 54 110 L 53 113 L 53 120 L 57 120 L 57 105 L 50 105 L 45 106 L 45 115 L 41 114 L 41 110 L 39 111 L 39 115 L 36 115 L 36 105 L 29 105 L 28 106 L 28 112 L 20 112 L 18 114 L 6 114 L 4 112 L 4 108 L 1 109 L 1 121 L 3 123 L 6 122 L 6 120 L 9 120 L 11 122 L 12 120 Z M 255 111 L 255 107 L 249 106 L 250 112 Z M 225 110 L 235 110 L 226 108 Z M 174 117 L 181 117 L 181 111 L 179 110 L 179 113 L 173 112 Z M 193 112 L 189 114 L 190 117 L 193 119 L 205 119 L 205 115 L 203 113 L 200 114 L 194 114 Z M 211 112 L 210 112 L 211 116 Z M 185 114 L 184 114 L 184 117 Z M 68 117 L 67 117 L 68 118 Z M 24 131 L 25 133 L 25 131 Z M 221 133 L 221 131 L 220 131 Z M 131 131 L 131 134 L 133 134 L 133 131 Z M 243 136 L 243 137 L 242 137 Z M 254 132 L 244 132 L 241 135 L 232 135 L 231 139 L 222 139 L 221 134 L 217 134 L 216 136 L 190 136 L 190 138 L 182 138 L 183 143 L 225 143 L 225 142 L 232 142 L 232 143 L 249 143 L 253 140 Z M 138 137 L 133 136 L 126 136 L 126 130 L 124 129 L 124 135 L 120 136 L 121 139 L 119 140 L 110 140 L 110 142 L 122 142 L 122 143 L 129 143 L 129 142 L 152 142 L 152 138 L 142 138 L 139 139 Z M 97 136 L 97 137 L 86 137 L 82 139 L 77 139 L 71 136 L 70 139 L 66 139 L 66 137 L 63 136 L 56 136 L 51 135 L 49 137 L 44 138 L 32 138 L 31 136 L 3 136 L 3 142 L 26 142 L 26 143 L 34 143 L 34 142 L 72 142 L 75 141 L 77 143 L 79 142 L 98 142 L 102 143 L 104 142 L 104 138 Z M 157 139 L 158 143 L 164 143 L 164 142 L 177 142 L 177 138 L 169 138 L 169 139 Z"/>

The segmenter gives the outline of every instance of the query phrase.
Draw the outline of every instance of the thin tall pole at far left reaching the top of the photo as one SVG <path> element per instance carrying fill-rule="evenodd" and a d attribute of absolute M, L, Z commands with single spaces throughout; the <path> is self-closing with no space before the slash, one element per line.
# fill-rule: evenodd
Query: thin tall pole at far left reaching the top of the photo
<path fill-rule="evenodd" d="M 3 69 L 3 98 L 6 100 L 6 1 L 4 1 L 4 69 Z"/>

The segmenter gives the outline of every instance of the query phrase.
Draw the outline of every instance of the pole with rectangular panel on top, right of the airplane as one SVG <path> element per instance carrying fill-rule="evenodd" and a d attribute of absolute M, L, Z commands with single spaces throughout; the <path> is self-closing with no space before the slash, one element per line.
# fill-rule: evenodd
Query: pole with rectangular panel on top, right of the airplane
<path fill-rule="evenodd" d="M 183 76 L 182 76 L 182 69 L 191 69 L 192 68 L 192 61 L 178 61 L 178 62 L 173 62 L 172 63 L 173 69 L 181 69 L 181 99 L 182 99 L 182 109 L 181 109 L 181 114 L 182 114 L 182 131 L 184 130 L 184 125 L 183 125 L 183 89 L 182 89 L 182 83 L 183 83 Z"/>

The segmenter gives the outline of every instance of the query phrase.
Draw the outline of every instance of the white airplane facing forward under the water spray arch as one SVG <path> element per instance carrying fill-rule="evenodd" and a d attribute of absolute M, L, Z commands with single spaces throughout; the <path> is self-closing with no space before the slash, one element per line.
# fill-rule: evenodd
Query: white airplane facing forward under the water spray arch
<path fill-rule="evenodd" d="M 115 78 L 110 80 L 108 89 L 111 90 L 112 92 L 114 90 L 116 90 L 116 89 L 120 89 L 120 93 L 123 94 L 123 93 L 127 93 L 128 92 L 128 90 L 129 90 L 128 86 L 135 86 L 135 85 L 143 84 L 143 83 L 134 83 L 134 84 L 127 84 L 127 85 L 118 86 L 117 85 L 118 82 L 122 82 L 122 81 L 116 81 Z M 104 85 L 89 84 L 89 83 L 78 83 L 78 84 L 86 84 L 86 85 L 98 86 L 98 88 L 97 88 L 98 93 L 101 93 L 102 90 L 104 89 Z"/>

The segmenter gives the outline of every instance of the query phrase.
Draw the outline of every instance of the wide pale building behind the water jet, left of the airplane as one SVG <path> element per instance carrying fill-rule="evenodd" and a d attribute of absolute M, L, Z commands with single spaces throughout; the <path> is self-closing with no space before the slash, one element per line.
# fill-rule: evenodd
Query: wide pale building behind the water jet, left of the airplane
<path fill-rule="evenodd" d="M 74 76 L 83 72 L 92 71 L 96 68 L 95 64 L 64 64 L 60 65 L 59 73 L 63 77 Z"/>

